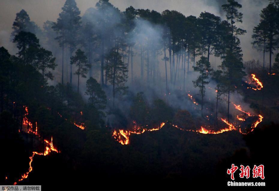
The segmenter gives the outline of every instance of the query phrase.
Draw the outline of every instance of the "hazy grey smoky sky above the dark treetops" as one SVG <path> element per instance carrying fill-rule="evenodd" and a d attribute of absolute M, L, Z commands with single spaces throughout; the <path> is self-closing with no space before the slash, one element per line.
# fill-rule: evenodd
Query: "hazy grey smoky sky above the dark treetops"
<path fill-rule="evenodd" d="M 95 7 L 98 0 L 76 0 L 81 15 L 89 7 Z M 14 45 L 10 43 L 9 36 L 16 13 L 24 9 L 29 17 L 38 26 L 42 27 L 46 20 L 56 21 L 61 7 L 65 0 L 1 0 L 0 1 L 0 46 L 6 47 L 11 53 L 15 53 Z M 150 9 L 162 12 L 163 10 L 177 10 L 185 16 L 199 16 L 203 11 L 213 13 L 225 19 L 225 14 L 221 5 L 226 0 L 110 0 L 121 11 L 129 6 L 136 9 Z M 251 46 L 251 35 L 253 27 L 259 23 L 259 14 L 267 6 L 268 0 L 239 0 L 242 4 L 240 12 L 243 13 L 243 23 L 238 26 L 245 29 L 247 33 L 240 37 L 243 50 L 244 61 L 259 59 L 262 61 L 262 55 Z"/>

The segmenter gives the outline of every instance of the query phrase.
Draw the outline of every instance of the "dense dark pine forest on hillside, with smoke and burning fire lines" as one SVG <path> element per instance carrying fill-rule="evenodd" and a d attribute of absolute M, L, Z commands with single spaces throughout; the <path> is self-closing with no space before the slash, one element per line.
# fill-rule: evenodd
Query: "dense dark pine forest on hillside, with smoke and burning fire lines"
<path fill-rule="evenodd" d="M 17 53 L 0 47 L 0 183 L 225 187 L 234 163 L 275 184 L 279 1 L 253 28 L 262 61 L 242 58 L 241 7 L 221 19 L 99 0 L 81 15 L 66 0 L 42 28 L 20 10 Z"/>

